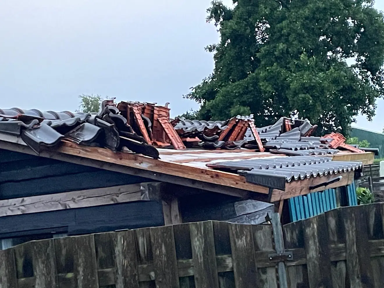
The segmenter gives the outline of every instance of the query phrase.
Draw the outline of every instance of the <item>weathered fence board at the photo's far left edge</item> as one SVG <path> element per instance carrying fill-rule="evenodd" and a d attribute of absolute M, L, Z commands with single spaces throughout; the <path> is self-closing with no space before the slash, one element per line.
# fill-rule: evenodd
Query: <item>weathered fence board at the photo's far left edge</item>
<path fill-rule="evenodd" d="M 0 250 L 0 287 L 17 288 L 15 254 L 12 248 Z"/>

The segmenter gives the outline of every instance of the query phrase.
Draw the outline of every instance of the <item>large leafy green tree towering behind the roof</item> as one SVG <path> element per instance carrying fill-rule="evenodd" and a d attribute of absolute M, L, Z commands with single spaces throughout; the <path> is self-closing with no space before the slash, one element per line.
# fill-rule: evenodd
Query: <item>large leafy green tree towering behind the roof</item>
<path fill-rule="evenodd" d="M 384 21 L 372 0 L 233 3 L 207 10 L 221 36 L 206 48 L 215 68 L 184 96 L 202 105 L 199 118 L 253 113 L 260 127 L 299 117 L 347 133 L 359 112 L 374 116 L 384 94 Z"/>

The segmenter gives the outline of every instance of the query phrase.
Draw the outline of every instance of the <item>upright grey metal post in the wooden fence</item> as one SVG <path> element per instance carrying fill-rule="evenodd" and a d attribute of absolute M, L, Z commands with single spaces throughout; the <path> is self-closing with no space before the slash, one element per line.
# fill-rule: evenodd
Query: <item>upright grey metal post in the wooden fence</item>
<path fill-rule="evenodd" d="M 273 227 L 273 238 L 275 238 L 275 250 L 277 254 L 282 254 L 285 251 L 283 229 L 281 228 L 280 215 L 278 213 L 272 213 L 271 223 Z M 278 263 L 278 274 L 280 288 L 288 288 L 287 272 L 284 262 Z"/>

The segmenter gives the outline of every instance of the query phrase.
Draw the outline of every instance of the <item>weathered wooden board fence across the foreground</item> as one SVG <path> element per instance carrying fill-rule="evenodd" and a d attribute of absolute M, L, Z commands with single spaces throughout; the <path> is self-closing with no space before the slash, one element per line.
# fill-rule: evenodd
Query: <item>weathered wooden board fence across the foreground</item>
<path fill-rule="evenodd" d="M 338 208 L 285 225 L 281 255 L 271 225 L 215 221 L 32 241 L 0 251 L 0 287 L 277 288 L 286 265 L 291 288 L 378 288 L 383 226 L 384 204 Z"/>

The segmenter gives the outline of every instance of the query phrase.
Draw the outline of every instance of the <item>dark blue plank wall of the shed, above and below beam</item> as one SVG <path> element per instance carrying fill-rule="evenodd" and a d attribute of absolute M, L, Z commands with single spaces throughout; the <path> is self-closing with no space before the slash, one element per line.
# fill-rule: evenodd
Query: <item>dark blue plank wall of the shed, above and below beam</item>
<path fill-rule="evenodd" d="M 0 149 L 0 200 L 151 181 Z M 50 233 L 78 235 L 159 225 L 164 225 L 161 203 L 139 201 L 0 217 L 0 239 Z"/>

